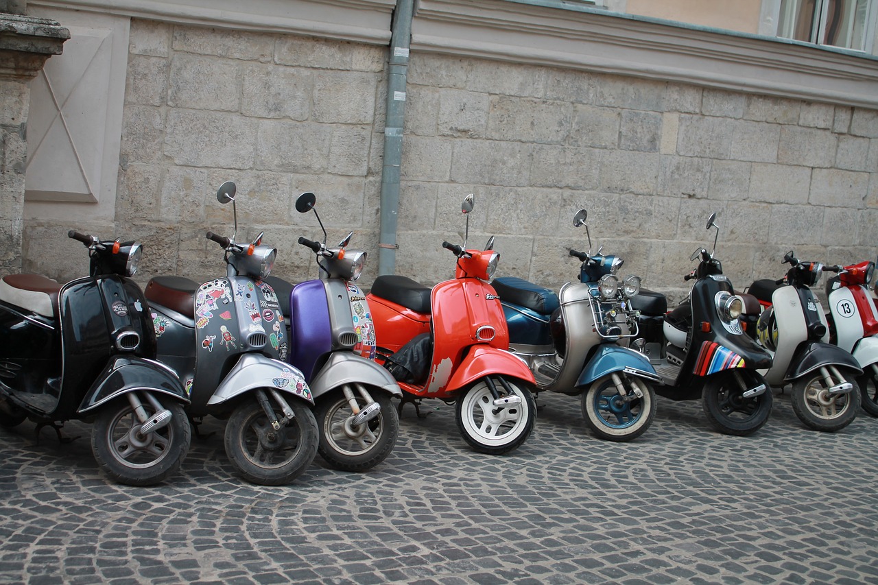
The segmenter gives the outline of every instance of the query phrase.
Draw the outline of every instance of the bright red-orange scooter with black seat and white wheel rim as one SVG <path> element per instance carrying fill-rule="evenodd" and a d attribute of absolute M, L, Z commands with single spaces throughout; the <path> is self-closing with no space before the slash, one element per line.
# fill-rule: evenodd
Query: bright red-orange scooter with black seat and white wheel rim
<path fill-rule="evenodd" d="M 455 402 L 457 429 L 475 451 L 513 451 L 529 437 L 536 418 L 534 376 L 509 353 L 509 331 L 497 292 L 488 280 L 499 254 L 493 237 L 485 250 L 443 242 L 457 257 L 455 278 L 432 289 L 410 278 L 379 276 L 366 296 L 375 323 L 379 362 L 399 381 L 401 410 L 422 399 Z"/>

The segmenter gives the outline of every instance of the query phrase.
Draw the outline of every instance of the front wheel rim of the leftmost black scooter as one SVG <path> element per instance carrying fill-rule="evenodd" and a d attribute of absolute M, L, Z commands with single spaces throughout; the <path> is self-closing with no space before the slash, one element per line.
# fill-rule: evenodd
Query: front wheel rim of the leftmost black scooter
<path fill-rule="evenodd" d="M 122 408 L 107 427 L 106 438 L 113 458 L 125 466 L 146 469 L 169 457 L 174 430 L 169 424 L 143 435 L 141 426 L 133 408 Z"/>

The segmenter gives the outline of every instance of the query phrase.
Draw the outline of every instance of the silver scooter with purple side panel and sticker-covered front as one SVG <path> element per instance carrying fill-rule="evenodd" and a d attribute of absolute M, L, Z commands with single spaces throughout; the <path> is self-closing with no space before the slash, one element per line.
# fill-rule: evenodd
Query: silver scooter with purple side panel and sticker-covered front
<path fill-rule="evenodd" d="M 396 444 L 399 415 L 391 399 L 401 398 L 402 392 L 390 372 L 372 361 L 375 327 L 369 303 L 355 284 L 366 253 L 347 248 L 353 232 L 327 248 L 315 201 L 313 193 L 302 193 L 296 209 L 313 211 L 323 230 L 322 243 L 299 238 L 317 256 L 320 278 L 297 285 L 267 279 L 289 323 L 272 335 L 289 336 L 287 360 L 311 386 L 320 457 L 335 469 L 364 471 L 384 461 Z"/>

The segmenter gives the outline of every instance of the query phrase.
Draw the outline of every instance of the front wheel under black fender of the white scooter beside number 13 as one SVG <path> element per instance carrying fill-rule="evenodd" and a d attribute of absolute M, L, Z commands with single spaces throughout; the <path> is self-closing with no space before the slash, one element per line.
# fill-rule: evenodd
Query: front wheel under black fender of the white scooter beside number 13
<path fill-rule="evenodd" d="M 835 396 L 830 396 L 827 392 L 820 372 L 810 372 L 793 382 L 793 411 L 805 426 L 813 430 L 835 432 L 853 423 L 860 410 L 860 387 L 853 376 L 844 371 L 842 374 L 853 384 L 853 390 Z"/>

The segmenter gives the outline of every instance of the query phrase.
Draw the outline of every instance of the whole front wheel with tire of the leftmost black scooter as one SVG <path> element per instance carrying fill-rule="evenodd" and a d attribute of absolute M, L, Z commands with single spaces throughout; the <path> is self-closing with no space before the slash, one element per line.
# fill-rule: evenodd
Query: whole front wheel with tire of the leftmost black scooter
<path fill-rule="evenodd" d="M 155 408 L 143 401 L 148 415 Z M 183 465 L 189 452 L 191 426 L 183 405 L 173 399 L 162 404 L 171 413 L 170 423 L 140 436 L 140 420 L 126 397 L 101 408 L 91 429 L 91 451 L 97 465 L 112 480 L 128 486 L 152 486 Z"/>

